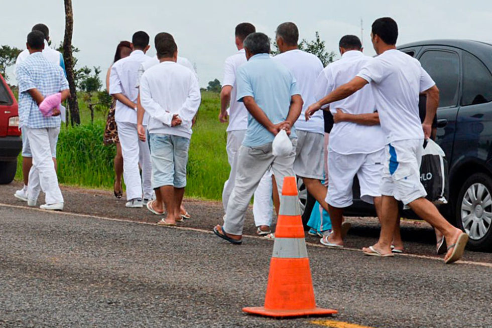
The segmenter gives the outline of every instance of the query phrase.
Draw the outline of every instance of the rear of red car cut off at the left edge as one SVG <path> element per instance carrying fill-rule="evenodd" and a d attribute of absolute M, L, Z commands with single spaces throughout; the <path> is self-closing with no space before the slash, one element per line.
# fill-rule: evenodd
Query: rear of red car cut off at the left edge
<path fill-rule="evenodd" d="M 0 75 L 0 184 L 9 184 L 14 180 L 21 149 L 17 100 Z"/>

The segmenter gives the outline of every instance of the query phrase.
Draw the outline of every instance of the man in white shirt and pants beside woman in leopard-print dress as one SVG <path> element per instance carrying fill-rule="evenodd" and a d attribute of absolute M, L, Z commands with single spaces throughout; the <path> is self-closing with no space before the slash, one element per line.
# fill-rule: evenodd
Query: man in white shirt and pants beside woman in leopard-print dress
<path fill-rule="evenodd" d="M 114 120 L 123 154 L 123 178 L 127 185 L 128 208 L 142 208 L 152 198 L 152 167 L 149 144 L 139 140 L 137 131 L 137 98 L 140 65 L 149 59 L 149 35 L 143 31 L 132 37 L 133 51 L 130 56 L 115 62 L 109 75 L 109 93 L 116 99 Z M 148 117 L 144 117 L 147 125 Z M 139 163 L 142 167 L 140 176 Z M 142 197 L 143 196 L 143 197 Z M 143 198 L 143 201 L 142 201 Z"/>

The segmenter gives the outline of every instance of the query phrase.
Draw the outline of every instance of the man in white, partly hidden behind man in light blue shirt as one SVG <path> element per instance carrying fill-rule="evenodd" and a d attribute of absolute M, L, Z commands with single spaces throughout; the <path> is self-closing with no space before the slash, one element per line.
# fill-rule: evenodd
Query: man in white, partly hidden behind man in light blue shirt
<path fill-rule="evenodd" d="M 242 42 L 251 33 L 256 32 L 255 26 L 250 23 L 238 24 L 235 28 L 235 44 L 237 52 L 225 60 L 224 79 L 220 91 L 220 113 L 219 120 L 222 123 L 229 122 L 227 126 L 227 159 L 230 165 L 229 178 L 224 183 L 222 191 L 222 204 L 227 211 L 229 197 L 234 189 L 236 178 L 239 147 L 241 146 L 246 129 L 248 128 L 248 110 L 244 104 L 236 100 L 236 70 L 239 66 L 248 62 Z M 253 202 L 253 215 L 257 233 L 268 235 L 272 223 L 272 173 L 268 171 L 260 181 Z"/>

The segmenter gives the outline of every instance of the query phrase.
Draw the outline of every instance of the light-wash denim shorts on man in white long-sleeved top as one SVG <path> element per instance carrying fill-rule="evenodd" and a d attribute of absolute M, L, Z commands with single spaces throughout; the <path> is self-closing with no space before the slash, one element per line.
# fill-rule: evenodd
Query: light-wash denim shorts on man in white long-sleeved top
<path fill-rule="evenodd" d="M 150 134 L 152 188 L 186 187 L 190 139 L 171 134 Z"/>

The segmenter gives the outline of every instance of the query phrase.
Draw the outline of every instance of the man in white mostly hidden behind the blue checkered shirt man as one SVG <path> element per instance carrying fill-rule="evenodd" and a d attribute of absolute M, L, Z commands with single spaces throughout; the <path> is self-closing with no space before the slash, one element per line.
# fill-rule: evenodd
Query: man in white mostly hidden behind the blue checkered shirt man
<path fill-rule="evenodd" d="M 48 27 L 44 24 L 36 24 L 33 26 L 31 31 L 39 31 L 43 33 L 44 35 L 44 49 L 43 49 L 43 56 L 51 63 L 60 66 L 63 69 L 63 72 L 65 73 L 65 76 L 67 75 L 65 72 L 65 62 L 63 61 L 63 55 L 56 51 L 53 48 L 50 48 L 48 42 L 50 41 L 50 30 Z M 24 60 L 26 60 L 29 57 L 29 50 L 25 49 L 23 50 L 19 56 L 17 57 L 16 60 L 16 67 L 19 66 Z M 18 79 L 19 80 L 19 79 Z M 15 197 L 27 201 L 28 195 L 27 195 L 27 185 L 29 184 L 29 171 L 31 171 L 31 167 L 33 166 L 33 154 L 31 152 L 31 145 L 29 143 L 29 139 L 27 138 L 27 133 L 22 133 L 22 173 L 24 176 L 24 188 L 16 191 L 14 194 Z M 53 148 L 52 154 L 53 156 L 53 162 L 55 163 L 55 169 L 56 169 L 56 147 Z"/>

